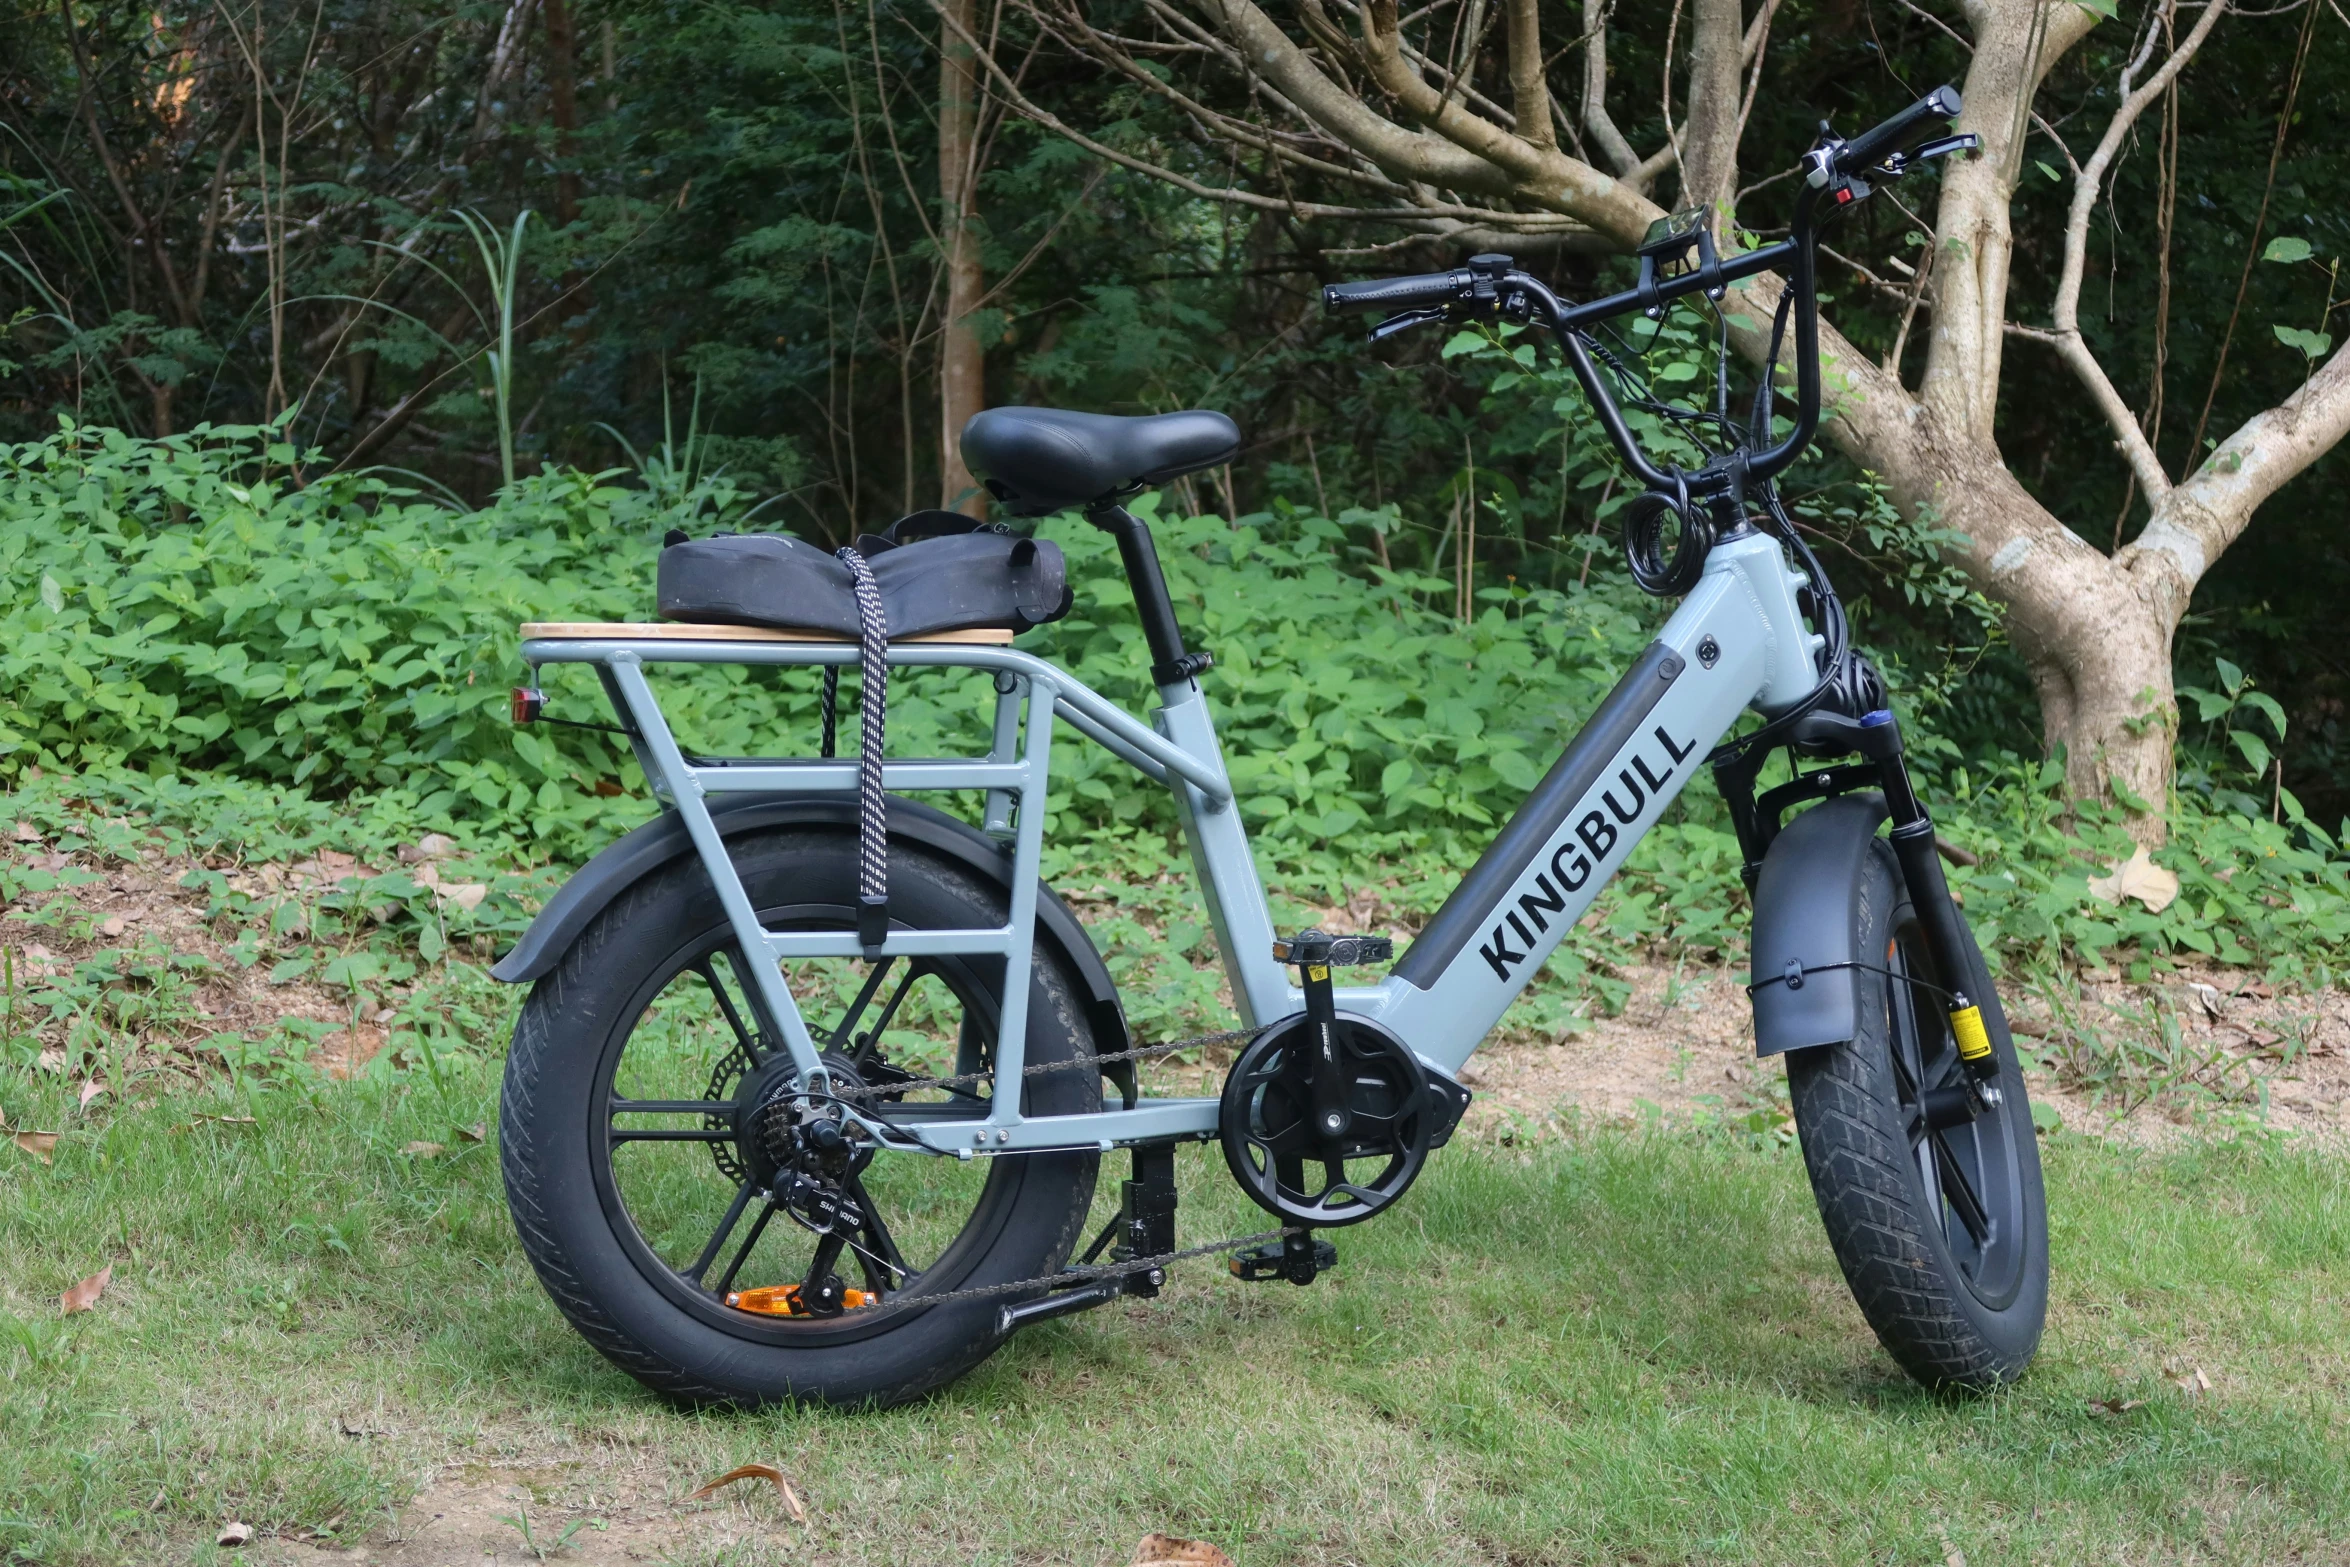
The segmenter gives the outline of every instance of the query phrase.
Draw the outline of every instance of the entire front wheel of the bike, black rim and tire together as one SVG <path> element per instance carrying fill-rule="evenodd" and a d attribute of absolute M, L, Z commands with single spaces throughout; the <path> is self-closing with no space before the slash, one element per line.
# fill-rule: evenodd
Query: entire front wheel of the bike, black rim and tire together
<path fill-rule="evenodd" d="M 2014 1381 L 2047 1318 L 2049 1236 L 2033 1111 L 2007 1015 L 1967 937 L 1960 984 L 1880 841 L 1861 862 L 1859 1036 L 1786 1057 L 1802 1158 L 1835 1259 L 1887 1353 L 1932 1388 Z M 1943 994 L 1981 1006 L 2000 1062 L 1998 1104 L 1965 1109 Z"/>

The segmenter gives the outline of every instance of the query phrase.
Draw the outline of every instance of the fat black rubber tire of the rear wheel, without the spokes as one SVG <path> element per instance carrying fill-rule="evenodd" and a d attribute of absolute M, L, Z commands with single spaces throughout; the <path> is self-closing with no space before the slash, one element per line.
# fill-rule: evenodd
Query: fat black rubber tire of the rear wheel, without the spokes
<path fill-rule="evenodd" d="M 853 832 L 778 829 L 728 841 L 752 904 L 808 919 L 837 904 L 855 926 Z M 811 890 L 822 902 L 811 904 Z M 919 846 L 891 846 L 891 914 L 912 928 L 987 928 L 1006 919 L 1003 890 Z M 555 1306 L 613 1365 L 689 1405 L 898 1405 L 940 1388 L 999 1344 L 1001 1299 L 931 1309 L 909 1304 L 872 1323 L 851 1311 L 830 1323 L 771 1323 L 700 1302 L 682 1302 L 674 1276 L 634 1240 L 625 1217 L 599 1196 L 592 1139 L 599 1069 L 606 1052 L 665 982 L 679 954 L 707 947 L 724 912 L 700 860 L 684 858 L 620 893 L 562 963 L 531 989 L 515 1024 L 498 1111 L 508 1208 L 522 1250 Z M 996 970 L 1001 973 L 1001 970 Z M 989 982 L 1001 994 L 1001 977 Z M 1029 1064 L 1079 1060 L 1095 1050 L 1076 984 L 1036 944 L 1029 987 Z M 818 1020 L 811 1020 L 818 1022 Z M 1029 1114 L 1100 1109 L 1090 1071 L 1029 1078 Z M 881 1154 L 881 1158 L 919 1158 Z M 989 1175 L 964 1238 L 933 1264 L 940 1290 L 1036 1278 L 1058 1271 L 1076 1245 L 1100 1158 L 1036 1154 Z M 952 1259 L 952 1266 L 949 1266 Z"/>

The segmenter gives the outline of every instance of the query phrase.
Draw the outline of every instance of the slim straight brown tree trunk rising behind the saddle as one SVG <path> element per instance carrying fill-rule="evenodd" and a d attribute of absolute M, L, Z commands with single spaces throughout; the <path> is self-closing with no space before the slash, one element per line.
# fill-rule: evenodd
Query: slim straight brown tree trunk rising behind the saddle
<path fill-rule="evenodd" d="M 971 320 L 985 294 L 980 270 L 978 132 L 980 70 L 971 38 L 980 26 L 978 0 L 945 0 L 938 35 L 938 197 L 947 265 L 947 310 L 938 350 L 938 503 L 971 517 L 987 515 L 987 491 L 964 468 L 961 437 L 987 406 L 987 355 Z"/>

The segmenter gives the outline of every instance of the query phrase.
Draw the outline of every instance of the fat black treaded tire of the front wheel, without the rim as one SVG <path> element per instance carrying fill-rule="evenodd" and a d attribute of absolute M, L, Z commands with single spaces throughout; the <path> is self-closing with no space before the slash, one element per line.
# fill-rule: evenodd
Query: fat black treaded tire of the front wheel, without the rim
<path fill-rule="evenodd" d="M 1859 954 L 1882 954 L 1894 930 L 1911 921 L 1899 867 L 1882 841 L 1861 862 L 1854 907 Z M 1965 989 L 1983 1008 L 2000 1057 L 2005 1104 L 1988 1114 L 2007 1116 L 2021 1172 L 2021 1278 L 2005 1306 L 1988 1309 L 1969 1290 L 1943 1240 L 1941 1215 L 1927 1205 L 1896 1111 L 1889 982 L 1861 977 L 1856 1038 L 1786 1057 L 1802 1161 L 1845 1283 L 1887 1353 L 1936 1391 L 1981 1391 L 2021 1377 L 2040 1346 L 2049 1285 L 2047 1201 L 2030 1104 L 2007 1017 L 1972 935 L 1967 949 L 1974 973 Z"/>

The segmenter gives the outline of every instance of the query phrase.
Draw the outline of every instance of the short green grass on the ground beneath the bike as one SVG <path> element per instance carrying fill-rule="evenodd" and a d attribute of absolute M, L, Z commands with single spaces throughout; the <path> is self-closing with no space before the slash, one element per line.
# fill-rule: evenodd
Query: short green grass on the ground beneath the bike
<path fill-rule="evenodd" d="M 461 1062 L 82 1118 L 56 1076 L 0 1071 L 14 1125 L 66 1130 L 54 1165 L 0 1146 L 0 1555 L 204 1560 L 228 1518 L 352 1539 L 432 1466 L 550 1452 L 620 1454 L 667 1499 L 745 1459 L 801 1482 L 806 1532 L 679 1518 L 686 1562 L 1112 1562 L 1147 1529 L 1246 1567 L 2350 1551 L 2350 1196 L 2282 1139 L 2052 1139 L 2047 1346 L 1986 1400 L 1878 1351 L 1793 1154 L 1591 1130 L 1459 1139 L 1314 1290 L 1191 1264 L 921 1407 L 712 1417 L 548 1306 L 494 1142 L 456 1132 L 496 1125 L 494 1092 Z M 1182 1222 L 1257 1226 L 1208 1151 Z M 96 1311 L 59 1318 L 108 1262 Z"/>

